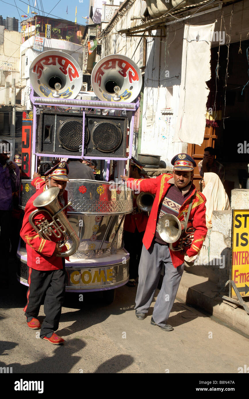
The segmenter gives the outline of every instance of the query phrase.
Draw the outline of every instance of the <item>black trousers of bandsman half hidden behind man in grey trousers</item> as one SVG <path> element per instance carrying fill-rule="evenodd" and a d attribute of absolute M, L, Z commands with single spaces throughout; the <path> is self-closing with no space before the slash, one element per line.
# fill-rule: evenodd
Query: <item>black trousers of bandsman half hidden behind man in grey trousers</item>
<path fill-rule="evenodd" d="M 129 252 L 129 279 L 136 279 L 138 276 L 138 265 L 143 247 L 144 231 L 139 233 L 137 227 L 134 233 L 124 231 L 124 247 Z"/>

